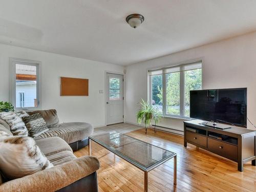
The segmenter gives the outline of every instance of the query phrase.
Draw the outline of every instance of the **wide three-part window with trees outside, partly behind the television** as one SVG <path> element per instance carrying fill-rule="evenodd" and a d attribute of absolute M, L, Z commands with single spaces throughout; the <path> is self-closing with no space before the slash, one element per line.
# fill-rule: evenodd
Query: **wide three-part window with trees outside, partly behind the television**
<path fill-rule="evenodd" d="M 165 116 L 189 117 L 189 91 L 202 89 L 202 62 L 150 72 L 150 99 Z"/>

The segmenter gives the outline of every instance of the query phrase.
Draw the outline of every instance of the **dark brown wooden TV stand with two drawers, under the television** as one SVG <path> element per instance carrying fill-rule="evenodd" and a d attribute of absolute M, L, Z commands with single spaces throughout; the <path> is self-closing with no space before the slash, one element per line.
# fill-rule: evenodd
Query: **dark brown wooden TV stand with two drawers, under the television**
<path fill-rule="evenodd" d="M 221 130 L 200 124 L 200 120 L 184 121 L 184 146 L 196 145 L 238 163 L 238 170 L 243 172 L 243 164 L 255 161 L 256 131 L 231 126 Z"/>

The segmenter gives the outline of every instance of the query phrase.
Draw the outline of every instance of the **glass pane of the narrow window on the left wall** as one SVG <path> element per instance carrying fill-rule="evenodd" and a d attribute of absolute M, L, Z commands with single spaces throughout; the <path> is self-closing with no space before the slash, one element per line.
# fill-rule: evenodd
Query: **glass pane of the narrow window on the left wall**
<path fill-rule="evenodd" d="M 15 65 L 16 108 L 37 106 L 36 66 Z"/>

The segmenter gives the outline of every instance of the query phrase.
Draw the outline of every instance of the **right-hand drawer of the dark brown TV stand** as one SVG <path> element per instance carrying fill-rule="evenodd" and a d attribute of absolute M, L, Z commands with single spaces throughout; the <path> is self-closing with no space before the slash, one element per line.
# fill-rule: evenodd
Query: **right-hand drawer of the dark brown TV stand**
<path fill-rule="evenodd" d="M 238 146 L 208 138 L 208 149 L 217 155 L 238 161 Z"/>

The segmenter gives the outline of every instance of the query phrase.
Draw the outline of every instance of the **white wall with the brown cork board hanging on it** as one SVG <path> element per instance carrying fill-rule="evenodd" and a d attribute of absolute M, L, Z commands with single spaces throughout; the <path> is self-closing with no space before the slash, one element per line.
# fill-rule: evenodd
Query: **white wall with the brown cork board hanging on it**
<path fill-rule="evenodd" d="M 56 109 L 60 122 L 105 124 L 105 70 L 122 66 L 0 44 L 0 100 L 9 101 L 9 57 L 41 61 L 41 108 Z M 89 79 L 89 96 L 60 97 L 60 76 Z M 105 92 L 104 92 L 105 93 Z"/>

